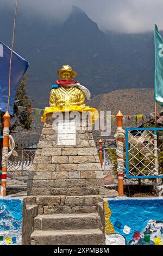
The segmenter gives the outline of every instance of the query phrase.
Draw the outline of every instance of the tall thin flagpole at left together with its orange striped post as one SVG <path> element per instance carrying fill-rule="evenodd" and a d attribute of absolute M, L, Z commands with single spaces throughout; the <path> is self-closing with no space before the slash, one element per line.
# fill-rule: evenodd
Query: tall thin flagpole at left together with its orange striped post
<path fill-rule="evenodd" d="M 6 196 L 6 187 L 7 187 L 8 143 L 9 143 L 9 124 L 10 124 L 9 103 L 10 103 L 10 91 L 11 91 L 11 63 L 12 63 L 12 52 L 14 47 L 16 14 L 17 14 L 17 0 L 15 3 L 14 27 L 13 27 L 13 33 L 12 33 L 12 44 L 11 44 L 11 54 L 10 54 L 8 105 L 7 105 L 7 111 L 3 116 L 4 128 L 3 128 L 2 176 L 1 176 L 1 196 L 2 197 Z"/>

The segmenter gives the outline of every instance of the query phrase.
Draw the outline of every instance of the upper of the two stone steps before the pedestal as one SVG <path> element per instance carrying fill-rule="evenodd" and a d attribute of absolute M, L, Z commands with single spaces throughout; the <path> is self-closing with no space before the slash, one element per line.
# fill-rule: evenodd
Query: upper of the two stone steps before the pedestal
<path fill-rule="evenodd" d="M 101 227 L 98 214 L 52 214 L 35 217 L 35 230 L 96 229 Z"/>

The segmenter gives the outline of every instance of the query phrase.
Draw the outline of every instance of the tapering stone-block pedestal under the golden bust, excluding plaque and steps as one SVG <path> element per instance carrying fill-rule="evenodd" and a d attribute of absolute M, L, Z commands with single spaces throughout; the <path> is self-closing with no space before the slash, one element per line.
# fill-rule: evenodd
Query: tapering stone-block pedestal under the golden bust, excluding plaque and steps
<path fill-rule="evenodd" d="M 81 130 L 78 123 L 76 145 L 58 145 L 53 121 L 48 114 L 28 177 L 28 195 L 103 195 L 103 173 L 92 131 Z"/>

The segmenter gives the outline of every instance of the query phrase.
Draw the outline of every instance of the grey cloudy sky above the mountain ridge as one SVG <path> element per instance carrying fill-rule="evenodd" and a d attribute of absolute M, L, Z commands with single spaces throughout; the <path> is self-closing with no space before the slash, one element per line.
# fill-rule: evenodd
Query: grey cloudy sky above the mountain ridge
<path fill-rule="evenodd" d="M 0 8 L 14 9 L 15 0 L 0 0 Z M 64 21 L 76 5 L 105 30 L 125 33 L 163 29 L 162 0 L 18 0 L 18 11 L 35 12 L 42 19 Z"/>

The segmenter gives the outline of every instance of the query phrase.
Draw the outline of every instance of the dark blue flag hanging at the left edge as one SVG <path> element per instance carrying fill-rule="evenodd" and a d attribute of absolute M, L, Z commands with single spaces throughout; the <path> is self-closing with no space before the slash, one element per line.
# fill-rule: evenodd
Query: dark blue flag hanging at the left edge
<path fill-rule="evenodd" d="M 9 92 L 9 68 L 11 49 L 0 41 L 0 111 L 7 111 Z M 12 52 L 11 63 L 11 91 L 9 114 L 13 114 L 15 95 L 23 75 L 28 69 L 27 60 L 23 59 L 16 52 Z"/>

